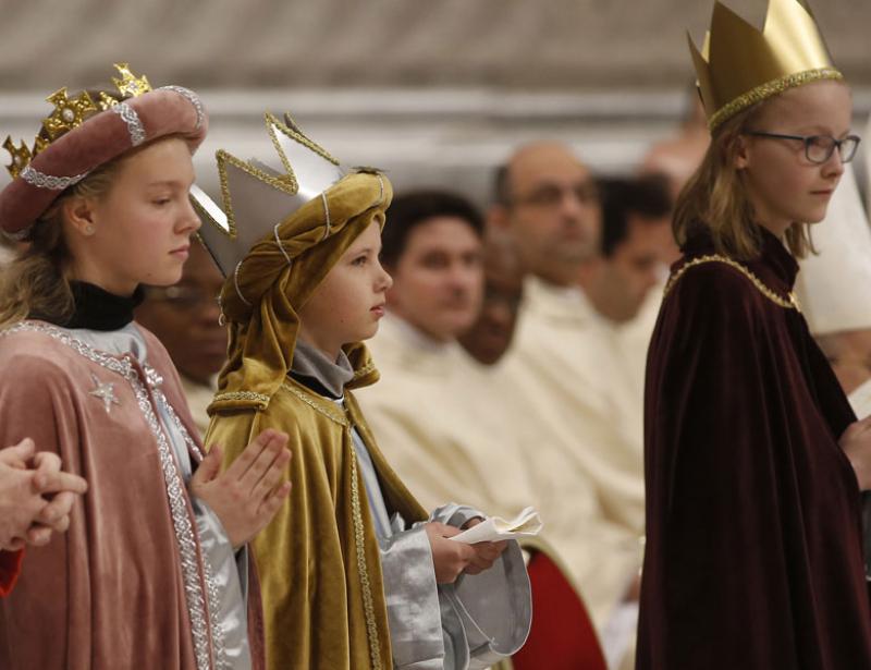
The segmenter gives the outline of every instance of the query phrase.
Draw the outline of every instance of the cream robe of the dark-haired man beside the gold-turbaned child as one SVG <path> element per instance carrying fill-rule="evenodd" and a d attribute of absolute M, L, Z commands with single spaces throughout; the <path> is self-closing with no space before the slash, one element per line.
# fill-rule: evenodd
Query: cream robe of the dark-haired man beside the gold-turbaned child
<path fill-rule="evenodd" d="M 436 342 L 392 315 L 367 345 L 381 379 L 357 400 L 425 508 L 462 500 L 504 516 L 531 504 L 525 455 L 518 440 L 505 439 L 504 416 L 483 395 L 482 366 L 457 342 Z"/>

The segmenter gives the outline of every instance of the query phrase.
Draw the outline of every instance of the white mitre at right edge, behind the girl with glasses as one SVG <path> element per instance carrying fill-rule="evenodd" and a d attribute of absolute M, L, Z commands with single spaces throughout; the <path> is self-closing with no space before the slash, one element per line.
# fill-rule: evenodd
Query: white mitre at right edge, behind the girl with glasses
<path fill-rule="evenodd" d="M 856 175 L 845 168 L 825 219 L 811 227 L 819 254 L 799 261 L 796 293 L 814 336 L 871 329 L 871 229 Z"/>

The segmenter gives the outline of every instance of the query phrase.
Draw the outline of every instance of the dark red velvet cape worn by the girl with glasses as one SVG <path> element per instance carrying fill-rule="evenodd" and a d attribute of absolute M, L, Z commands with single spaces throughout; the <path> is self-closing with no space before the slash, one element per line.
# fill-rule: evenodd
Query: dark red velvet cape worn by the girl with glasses
<path fill-rule="evenodd" d="M 687 259 L 712 254 L 695 241 Z M 786 297 L 764 233 L 745 264 Z M 648 356 L 647 552 L 637 670 L 871 668 L 855 415 L 801 314 L 739 270 L 689 268 Z"/>

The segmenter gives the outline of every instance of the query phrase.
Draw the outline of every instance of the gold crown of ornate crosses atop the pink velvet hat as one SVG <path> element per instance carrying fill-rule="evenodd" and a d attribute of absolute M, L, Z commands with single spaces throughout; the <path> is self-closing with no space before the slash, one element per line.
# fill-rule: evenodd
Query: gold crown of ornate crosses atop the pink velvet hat
<path fill-rule="evenodd" d="M 127 63 L 115 63 L 114 66 L 121 74 L 121 78 L 112 77 L 112 83 L 122 98 L 135 98 L 151 90 L 148 78 L 146 76 L 135 76 Z M 16 147 L 9 135 L 3 142 L 3 148 L 12 156 L 12 162 L 7 166 L 12 179 L 15 179 L 35 156 L 45 150 L 58 137 L 82 125 L 88 114 L 107 110 L 118 105 L 115 98 L 103 92 L 100 92 L 99 100 L 96 102 L 86 90 L 75 98 L 70 98 L 66 87 L 56 90 L 46 100 L 54 107 L 52 112 L 42 119 L 42 127 L 48 135 L 48 139 L 37 133 L 33 148 L 28 147 L 23 139 Z"/>

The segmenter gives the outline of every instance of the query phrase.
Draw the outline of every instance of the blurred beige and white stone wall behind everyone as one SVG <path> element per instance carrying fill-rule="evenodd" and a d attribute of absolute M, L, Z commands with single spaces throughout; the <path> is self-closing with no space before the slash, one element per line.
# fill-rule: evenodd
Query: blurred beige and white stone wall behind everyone
<path fill-rule="evenodd" d="M 871 1 L 811 1 L 861 131 Z M 764 0 L 727 4 L 762 24 Z M 155 86 L 200 93 L 209 190 L 216 148 L 269 150 L 271 110 L 400 188 L 452 186 L 484 204 L 492 168 L 526 139 L 561 138 L 600 171 L 631 170 L 687 112 L 686 31 L 700 42 L 710 13 L 709 0 L 0 0 L 0 139 L 30 142 L 47 95 L 108 82 L 127 61 Z"/>

